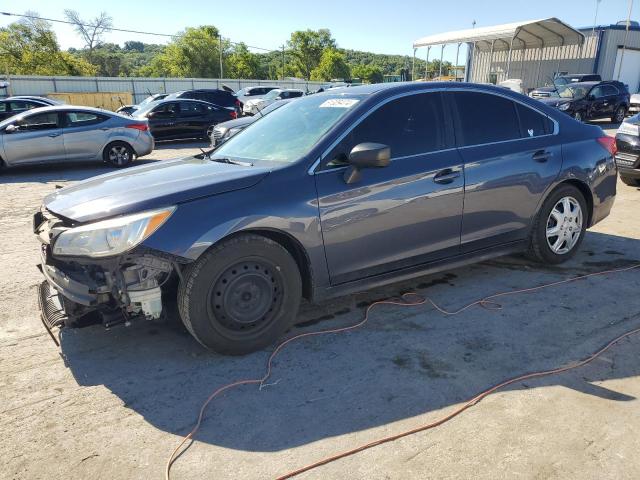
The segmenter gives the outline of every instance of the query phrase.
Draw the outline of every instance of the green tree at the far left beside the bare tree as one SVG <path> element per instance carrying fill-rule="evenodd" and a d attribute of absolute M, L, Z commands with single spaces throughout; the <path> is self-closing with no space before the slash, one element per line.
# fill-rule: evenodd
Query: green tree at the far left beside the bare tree
<path fill-rule="evenodd" d="M 27 15 L 38 16 L 35 12 Z M 14 75 L 94 75 L 82 58 L 60 51 L 51 24 L 25 18 L 0 28 L 0 72 Z"/>

